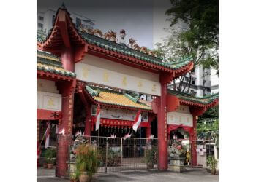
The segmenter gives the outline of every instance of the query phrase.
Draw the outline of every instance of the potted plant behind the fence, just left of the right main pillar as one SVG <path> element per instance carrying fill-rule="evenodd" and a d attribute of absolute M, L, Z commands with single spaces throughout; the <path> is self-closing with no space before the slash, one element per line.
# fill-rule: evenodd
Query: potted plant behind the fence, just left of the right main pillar
<path fill-rule="evenodd" d="M 148 169 L 153 169 L 154 164 L 157 163 L 157 147 L 151 146 L 150 143 L 147 143 L 146 146 L 147 146 L 146 153 L 145 153 L 146 165 Z"/>

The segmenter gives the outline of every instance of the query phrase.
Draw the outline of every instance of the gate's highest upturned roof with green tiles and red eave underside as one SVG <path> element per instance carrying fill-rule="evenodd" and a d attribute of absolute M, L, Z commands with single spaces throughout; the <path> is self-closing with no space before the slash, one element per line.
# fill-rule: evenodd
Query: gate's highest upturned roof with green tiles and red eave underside
<path fill-rule="evenodd" d="M 46 37 L 37 35 L 37 47 L 40 50 L 52 52 L 61 56 L 64 47 L 72 48 L 75 52 L 75 63 L 83 60 L 88 52 L 129 66 L 143 68 L 157 73 L 169 73 L 172 78 L 185 74 L 193 68 L 192 58 L 166 62 L 160 58 L 133 50 L 113 41 L 78 31 L 69 12 L 61 7 L 56 12 L 53 28 Z"/>

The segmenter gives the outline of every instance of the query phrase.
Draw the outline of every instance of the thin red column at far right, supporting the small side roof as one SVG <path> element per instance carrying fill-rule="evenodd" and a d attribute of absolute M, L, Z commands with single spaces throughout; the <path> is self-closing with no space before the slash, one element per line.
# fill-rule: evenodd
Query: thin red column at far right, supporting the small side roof
<path fill-rule="evenodd" d="M 192 166 L 197 166 L 197 116 L 193 115 L 193 131 L 191 141 L 192 141 Z"/>

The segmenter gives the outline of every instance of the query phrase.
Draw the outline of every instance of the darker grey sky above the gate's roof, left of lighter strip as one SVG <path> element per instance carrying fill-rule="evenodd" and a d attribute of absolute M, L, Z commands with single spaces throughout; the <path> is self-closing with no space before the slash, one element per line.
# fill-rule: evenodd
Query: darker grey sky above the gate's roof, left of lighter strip
<path fill-rule="evenodd" d="M 153 20 L 155 0 L 37 0 L 37 11 L 45 12 L 47 9 L 56 10 L 65 3 L 67 10 L 95 20 L 94 28 L 102 32 L 124 29 L 126 39 L 137 40 L 140 46 L 150 49 L 154 45 Z"/>

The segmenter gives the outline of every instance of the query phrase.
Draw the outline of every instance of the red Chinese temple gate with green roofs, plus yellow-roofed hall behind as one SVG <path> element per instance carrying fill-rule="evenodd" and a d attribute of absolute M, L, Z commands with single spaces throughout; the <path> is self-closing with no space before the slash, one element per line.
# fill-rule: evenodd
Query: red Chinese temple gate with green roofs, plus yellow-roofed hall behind
<path fill-rule="evenodd" d="M 194 98 L 167 90 L 168 83 L 192 68 L 191 58 L 167 63 L 116 40 L 78 30 L 67 9 L 61 7 L 48 36 L 37 35 L 37 122 L 58 120 L 58 130 L 72 135 L 79 115 L 74 109 L 79 105 L 84 114 L 79 118 L 84 123 L 84 135 L 92 135 L 95 106 L 99 104 L 100 126 L 118 132 L 124 128 L 131 130 L 140 109 L 140 128 L 146 131 L 146 138 L 151 135 L 151 122 L 157 119 L 159 170 L 166 170 L 170 131 L 184 127 L 195 141 L 197 116 L 218 103 L 218 95 Z M 141 100 L 133 92 L 152 95 L 154 100 Z M 179 114 L 180 106 L 186 106 L 188 113 Z M 181 123 L 175 121 L 176 117 L 181 117 Z M 188 118 L 187 124 L 183 118 Z M 37 135 L 38 132 L 37 128 Z M 68 143 L 60 141 L 59 146 L 57 155 L 66 154 L 57 158 L 56 172 L 61 175 L 67 168 Z M 193 151 L 193 165 L 197 165 L 195 148 Z"/>

